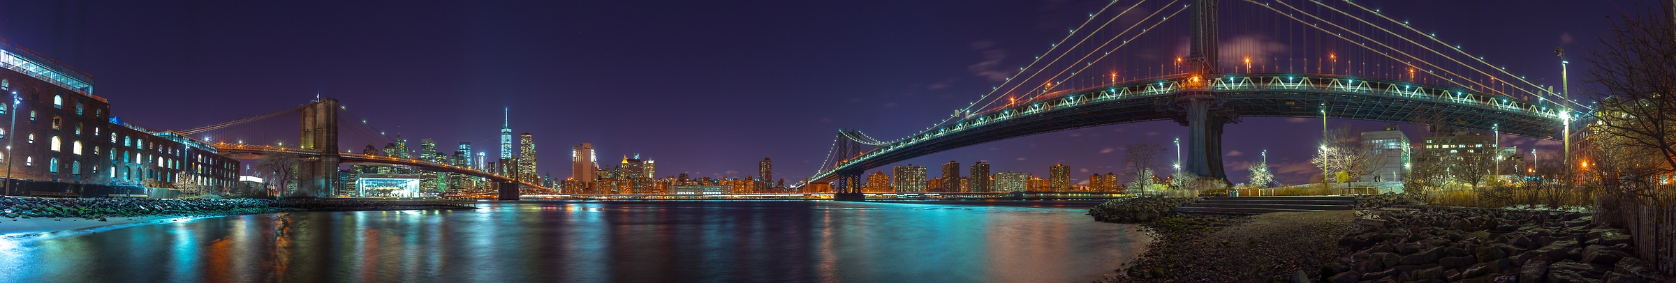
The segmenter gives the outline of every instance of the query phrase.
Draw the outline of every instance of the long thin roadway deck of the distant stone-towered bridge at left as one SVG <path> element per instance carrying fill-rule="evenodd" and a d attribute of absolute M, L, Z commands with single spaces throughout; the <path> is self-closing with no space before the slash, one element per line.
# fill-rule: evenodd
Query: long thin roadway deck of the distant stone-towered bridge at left
<path fill-rule="evenodd" d="M 215 149 L 220 151 L 221 154 L 230 154 L 230 156 L 238 156 L 238 154 L 245 154 L 245 156 L 266 156 L 266 154 L 273 154 L 273 152 L 288 152 L 288 154 L 298 154 L 298 156 L 320 156 L 320 151 L 298 149 L 298 147 L 260 146 L 260 144 L 226 144 L 226 142 L 218 142 L 218 144 L 211 144 L 211 146 L 215 146 Z M 389 156 L 355 154 L 355 152 L 339 152 L 337 156 L 339 156 L 339 159 L 342 162 L 349 162 L 349 164 L 414 166 L 414 167 L 437 171 L 437 172 L 458 172 L 458 174 L 466 174 L 466 176 L 486 178 L 486 179 L 494 181 L 494 183 L 518 183 L 520 186 L 525 186 L 525 188 L 546 189 L 543 186 L 530 184 L 530 183 L 521 183 L 521 181 L 508 178 L 508 176 L 499 176 L 499 174 L 494 174 L 494 172 L 478 171 L 478 169 L 471 169 L 471 167 L 459 167 L 459 166 L 451 166 L 451 164 L 437 164 L 437 162 L 429 162 L 429 161 L 402 159 L 402 157 L 389 157 Z"/>

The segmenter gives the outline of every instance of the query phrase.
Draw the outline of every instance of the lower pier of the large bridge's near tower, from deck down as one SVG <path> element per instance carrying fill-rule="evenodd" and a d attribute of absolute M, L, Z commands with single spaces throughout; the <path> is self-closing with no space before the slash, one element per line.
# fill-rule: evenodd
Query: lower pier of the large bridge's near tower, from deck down
<path fill-rule="evenodd" d="M 1175 97 L 1177 122 L 1187 126 L 1187 161 L 1182 169 L 1227 183 L 1222 171 L 1222 126 L 1237 119 L 1222 109 L 1215 92 L 1188 90 Z"/>

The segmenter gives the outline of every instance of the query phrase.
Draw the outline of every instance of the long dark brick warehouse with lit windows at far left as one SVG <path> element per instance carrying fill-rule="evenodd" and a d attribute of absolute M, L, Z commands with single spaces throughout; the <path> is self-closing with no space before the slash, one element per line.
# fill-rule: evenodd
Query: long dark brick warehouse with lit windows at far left
<path fill-rule="evenodd" d="M 7 196 L 134 196 L 238 181 L 240 162 L 215 147 L 111 116 L 85 72 L 5 39 L 0 67 L 0 94 L 15 94 L 0 104 L 0 146 L 12 147 L 0 151 Z"/>

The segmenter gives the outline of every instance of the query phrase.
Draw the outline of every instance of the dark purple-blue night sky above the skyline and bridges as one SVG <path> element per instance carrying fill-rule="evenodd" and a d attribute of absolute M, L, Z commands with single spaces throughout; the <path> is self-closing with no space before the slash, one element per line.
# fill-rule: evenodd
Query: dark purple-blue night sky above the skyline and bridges
<path fill-rule="evenodd" d="M 1611 27 L 1607 15 L 1636 7 L 1631 0 L 1358 3 L 1438 30 L 1550 85 L 1560 74 L 1555 47 L 1580 55 Z M 992 72 L 1027 64 L 1103 5 L 7 0 L 0 37 L 91 72 L 112 114 L 156 129 L 282 111 L 320 94 L 412 147 L 429 137 L 449 152 L 458 142 L 484 151 L 498 144 L 501 109 L 510 107 L 513 131 L 535 134 L 538 169 L 555 178 L 570 176 L 570 146 L 593 142 L 602 162 L 639 152 L 657 161 L 659 176 L 742 178 L 773 157 L 774 178 L 794 183 L 818 167 L 836 129 L 880 139 L 917 132 L 987 92 Z M 1257 13 L 1239 8 L 1252 5 L 1245 2 L 1222 5 L 1223 17 Z M 1585 65 L 1572 62 L 1572 89 L 1580 94 Z M 1384 124 L 1331 122 L 1368 131 Z M 1423 127 L 1403 129 L 1418 141 Z M 278 136 L 292 136 L 295 126 L 283 131 Z M 1125 144 L 1141 137 L 1168 144 L 1183 134 L 1168 121 L 1104 126 L 910 162 L 989 161 L 994 172 L 1037 176 L 1063 162 L 1081 181 L 1121 171 Z M 1264 149 L 1282 183 L 1307 181 L 1319 174 L 1307 162 L 1319 137 L 1319 117 L 1229 126 L 1230 181 L 1244 183 L 1245 166 Z M 1529 152 L 1535 139 L 1503 141 Z M 1540 144 L 1557 151 L 1557 142 Z"/>

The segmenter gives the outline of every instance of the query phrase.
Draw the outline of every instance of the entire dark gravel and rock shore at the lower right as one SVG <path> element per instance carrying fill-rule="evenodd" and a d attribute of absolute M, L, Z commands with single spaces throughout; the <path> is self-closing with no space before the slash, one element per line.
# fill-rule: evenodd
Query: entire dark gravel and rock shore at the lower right
<path fill-rule="evenodd" d="M 1589 213 L 1425 206 L 1358 198 L 1356 211 L 1192 216 L 1190 199 L 1115 199 L 1089 209 L 1141 223 L 1156 241 L 1106 281 L 1653 283 L 1631 234 Z M 1391 206 L 1391 208 L 1386 208 Z"/>

